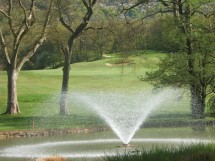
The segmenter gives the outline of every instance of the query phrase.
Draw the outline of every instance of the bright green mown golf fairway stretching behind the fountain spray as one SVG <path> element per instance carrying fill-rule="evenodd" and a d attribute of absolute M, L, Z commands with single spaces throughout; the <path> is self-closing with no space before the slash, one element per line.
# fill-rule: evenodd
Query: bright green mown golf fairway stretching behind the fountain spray
<path fill-rule="evenodd" d="M 118 60 L 118 54 L 108 59 L 82 62 L 71 65 L 69 89 L 76 90 L 151 90 L 152 86 L 138 79 L 151 69 L 164 53 L 135 51 L 128 57 L 133 63 L 126 66 L 106 66 Z M 59 117 L 59 93 L 61 90 L 62 68 L 53 70 L 21 71 L 17 81 L 18 101 L 21 113 L 15 116 L 0 115 L 0 130 L 30 129 L 32 120 L 39 128 L 65 128 L 103 126 L 98 116 L 89 110 L 69 108 L 68 116 Z M 0 113 L 6 110 L 7 74 L 0 71 Z M 53 105 L 52 101 L 55 100 Z M 72 117 L 71 117 L 72 116 Z M 165 116 L 165 117 L 164 117 Z M 149 121 L 162 122 L 169 119 L 190 118 L 189 98 L 166 102 L 156 110 Z"/>

